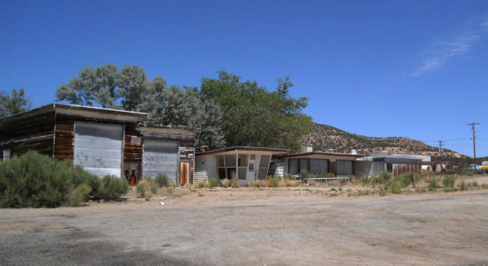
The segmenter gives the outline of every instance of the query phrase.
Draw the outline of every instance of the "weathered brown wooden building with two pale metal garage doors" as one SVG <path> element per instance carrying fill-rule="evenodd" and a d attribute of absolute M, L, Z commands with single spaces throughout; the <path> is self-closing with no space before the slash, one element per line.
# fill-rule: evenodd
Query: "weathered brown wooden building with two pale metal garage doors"
<path fill-rule="evenodd" d="M 49 104 L 0 119 L 2 160 L 37 150 L 98 176 L 140 177 L 165 173 L 180 185 L 192 183 L 195 130 L 144 125 L 147 114 Z"/>

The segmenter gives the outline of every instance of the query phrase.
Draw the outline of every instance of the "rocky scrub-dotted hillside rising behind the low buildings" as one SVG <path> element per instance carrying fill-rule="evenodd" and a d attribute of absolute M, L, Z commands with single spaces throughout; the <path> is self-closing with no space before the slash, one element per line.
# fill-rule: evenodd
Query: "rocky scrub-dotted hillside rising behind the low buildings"
<path fill-rule="evenodd" d="M 312 132 L 300 140 L 301 146 L 312 146 L 315 151 L 351 152 L 358 150 L 359 154 L 367 155 L 370 152 L 395 152 L 405 154 L 422 154 L 439 156 L 436 147 L 428 146 L 422 141 L 404 137 L 375 138 L 351 134 L 330 125 L 315 124 Z M 462 157 L 452 150 L 443 150 L 444 157 Z"/>

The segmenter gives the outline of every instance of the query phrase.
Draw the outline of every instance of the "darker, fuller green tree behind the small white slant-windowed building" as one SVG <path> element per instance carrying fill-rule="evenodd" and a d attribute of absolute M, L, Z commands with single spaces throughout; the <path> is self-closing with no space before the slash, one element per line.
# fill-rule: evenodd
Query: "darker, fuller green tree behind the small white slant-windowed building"
<path fill-rule="evenodd" d="M 199 95 L 222 111 L 222 130 L 229 146 L 270 146 L 298 149 L 298 139 L 310 132 L 312 118 L 303 114 L 308 99 L 289 95 L 289 77 L 277 79 L 275 91 L 224 70 L 218 79 L 204 78 Z"/>

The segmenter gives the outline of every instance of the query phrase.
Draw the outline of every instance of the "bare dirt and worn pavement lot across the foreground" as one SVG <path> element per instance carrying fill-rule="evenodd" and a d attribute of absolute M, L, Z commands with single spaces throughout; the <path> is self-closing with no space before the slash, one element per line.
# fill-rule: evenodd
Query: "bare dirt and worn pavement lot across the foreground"
<path fill-rule="evenodd" d="M 3 209 L 0 265 L 488 265 L 488 189 L 347 189 L 174 189 L 150 201 Z"/>

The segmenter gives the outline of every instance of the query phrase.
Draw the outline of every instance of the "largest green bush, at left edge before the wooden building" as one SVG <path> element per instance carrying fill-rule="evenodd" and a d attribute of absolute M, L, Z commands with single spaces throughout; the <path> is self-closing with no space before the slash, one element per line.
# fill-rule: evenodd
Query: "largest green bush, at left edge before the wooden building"
<path fill-rule="evenodd" d="M 82 184 L 93 194 L 100 180 L 70 161 L 30 151 L 0 162 L 0 207 L 54 208 L 67 203 L 69 194 Z"/>

